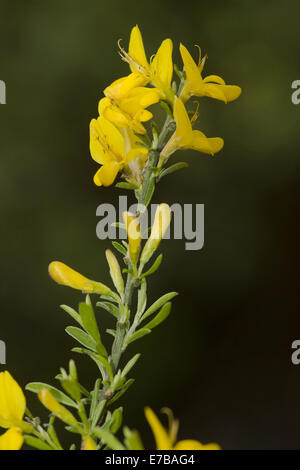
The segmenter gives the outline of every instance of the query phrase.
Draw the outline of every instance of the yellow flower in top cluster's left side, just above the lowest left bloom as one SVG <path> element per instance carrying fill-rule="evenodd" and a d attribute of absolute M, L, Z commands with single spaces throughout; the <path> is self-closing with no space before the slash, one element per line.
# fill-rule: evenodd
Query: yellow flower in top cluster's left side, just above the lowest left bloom
<path fill-rule="evenodd" d="M 159 93 L 155 89 L 137 87 L 131 90 L 126 97 L 119 100 L 109 97 L 99 102 L 99 114 L 118 127 L 129 127 L 138 134 L 145 134 L 146 129 L 142 122 L 153 117 L 145 108 L 159 101 Z"/>

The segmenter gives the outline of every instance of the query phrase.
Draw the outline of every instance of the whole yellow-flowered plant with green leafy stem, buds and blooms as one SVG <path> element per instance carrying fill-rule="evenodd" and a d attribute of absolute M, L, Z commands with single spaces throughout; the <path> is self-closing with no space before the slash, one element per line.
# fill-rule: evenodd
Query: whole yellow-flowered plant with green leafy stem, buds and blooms
<path fill-rule="evenodd" d="M 138 26 L 131 31 L 128 52 L 120 43 L 119 47 L 122 59 L 130 67 L 130 74 L 104 90 L 105 96 L 98 106 L 99 116 L 90 123 L 90 152 L 101 165 L 94 176 L 95 184 L 109 186 L 121 173 L 125 181 L 117 186 L 134 190 L 138 203 L 135 213 L 124 212 L 123 220 L 119 221 L 127 231 L 127 241 L 114 241 L 115 253 L 109 249 L 105 252 L 113 287 L 83 276 L 60 261 L 49 265 L 49 274 L 55 282 L 85 295 L 78 309 L 67 305 L 61 307 L 76 323 L 76 326 L 66 328 L 67 334 L 78 343 L 72 351 L 92 359 L 97 376 L 93 389 L 88 390 L 80 383 L 75 362 L 70 360 L 68 371 L 61 368 L 56 376 L 60 388 L 41 382 L 29 383 L 26 389 L 35 393 L 50 412 L 48 422 L 41 424 L 26 406 L 18 383 L 9 372 L 1 372 L 0 427 L 6 431 L 0 435 L 0 450 L 20 449 L 24 442 L 40 450 L 62 450 L 54 427 L 57 419 L 68 432 L 79 436 L 82 450 L 144 449 L 139 434 L 126 426 L 123 426 L 123 442 L 116 437 L 123 423 L 123 407 L 113 409 L 112 406 L 134 382 L 129 374 L 140 357 L 139 353 L 135 354 L 123 364 L 122 355 L 132 342 L 150 334 L 168 318 L 171 301 L 177 292 L 168 292 L 148 305 L 148 278 L 162 262 L 162 254 L 154 261 L 153 255 L 169 228 L 171 209 L 165 203 L 158 205 L 145 243 L 143 238 L 147 237 L 141 233 L 141 215 L 151 201 L 156 183 L 186 166 L 182 162 L 166 167 L 169 157 L 177 149 L 194 149 L 214 155 L 223 147 L 222 138 L 208 138 L 194 129 L 198 112 L 191 115 L 186 108 L 188 100 L 192 96 L 207 96 L 227 103 L 238 98 L 241 89 L 226 85 L 217 75 L 203 78 L 206 56 L 201 58 L 200 52 L 196 63 L 182 44 L 183 70 L 180 71 L 173 64 L 171 39 L 165 39 L 156 54 L 148 59 Z M 173 77 L 174 71 L 177 81 Z M 161 128 L 149 110 L 157 104 L 166 112 Z M 117 257 L 120 255 L 122 262 Z M 145 270 L 150 261 L 152 265 Z M 111 346 L 103 341 L 92 294 L 94 298 L 98 296 L 96 307 L 114 320 L 114 327 L 104 332 L 113 337 Z M 217 444 L 203 445 L 195 440 L 176 442 L 178 421 L 174 420 L 170 410 L 165 409 L 165 412 L 169 429 L 163 427 L 151 408 L 145 409 L 157 449 L 219 449 Z M 76 444 L 70 449 L 76 449 Z"/>

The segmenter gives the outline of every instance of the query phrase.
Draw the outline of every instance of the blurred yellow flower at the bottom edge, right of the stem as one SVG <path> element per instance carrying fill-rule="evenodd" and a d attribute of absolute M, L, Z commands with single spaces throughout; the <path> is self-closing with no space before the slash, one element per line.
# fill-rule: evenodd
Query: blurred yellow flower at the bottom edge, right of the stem
<path fill-rule="evenodd" d="M 152 429 L 158 450 L 220 450 L 218 444 L 202 444 L 191 439 L 175 443 L 178 423 L 170 416 L 170 429 L 166 430 L 151 408 L 145 408 L 146 419 Z"/>

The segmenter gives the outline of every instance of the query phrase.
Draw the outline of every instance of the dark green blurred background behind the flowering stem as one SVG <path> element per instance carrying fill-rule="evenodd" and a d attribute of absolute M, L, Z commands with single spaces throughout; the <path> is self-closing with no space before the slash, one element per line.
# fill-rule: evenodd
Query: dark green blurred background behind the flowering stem
<path fill-rule="evenodd" d="M 170 290 L 180 296 L 167 322 L 129 351 L 143 356 L 125 422 L 153 446 L 143 407 L 169 406 L 181 438 L 225 449 L 300 449 L 300 366 L 290 359 L 300 338 L 300 106 L 290 98 L 300 79 L 299 2 L 1 0 L 0 10 L 6 367 L 22 385 L 55 383 L 75 356 L 58 305 L 76 306 L 82 296 L 49 279 L 51 260 L 110 282 L 110 243 L 96 238 L 95 211 L 119 192 L 92 183 L 88 125 L 101 90 L 128 73 L 117 40 L 127 45 L 138 23 L 149 55 L 166 37 L 176 49 L 180 41 L 199 44 L 209 55 L 206 74 L 239 84 L 243 94 L 228 105 L 201 101 L 201 129 L 222 136 L 224 150 L 215 158 L 176 156 L 190 168 L 156 192 L 155 202 L 205 204 L 205 247 L 164 242 L 150 301 Z M 177 50 L 174 57 L 181 65 Z M 107 316 L 99 310 L 103 327 L 111 324 Z M 94 365 L 77 361 L 82 382 L 92 386 Z"/>

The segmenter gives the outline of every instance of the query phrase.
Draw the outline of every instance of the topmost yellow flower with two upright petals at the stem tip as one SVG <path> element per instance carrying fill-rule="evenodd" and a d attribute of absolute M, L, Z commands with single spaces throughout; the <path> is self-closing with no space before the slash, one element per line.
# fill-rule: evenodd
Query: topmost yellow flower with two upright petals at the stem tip
<path fill-rule="evenodd" d="M 144 84 L 151 82 L 160 92 L 162 99 L 173 102 L 174 93 L 171 83 L 173 76 L 173 43 L 165 39 L 157 53 L 147 60 L 143 38 L 138 26 L 131 30 L 128 53 L 121 49 L 123 60 L 128 62 L 131 71 L 144 79 Z"/>

